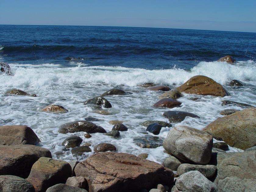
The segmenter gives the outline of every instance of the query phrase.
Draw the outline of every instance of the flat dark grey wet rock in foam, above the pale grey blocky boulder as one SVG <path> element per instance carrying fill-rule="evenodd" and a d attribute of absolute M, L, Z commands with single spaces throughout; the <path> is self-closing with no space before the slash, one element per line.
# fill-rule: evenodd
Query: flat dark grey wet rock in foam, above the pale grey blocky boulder
<path fill-rule="evenodd" d="M 163 116 L 169 119 L 170 123 L 180 123 L 182 122 L 187 116 L 192 118 L 200 118 L 199 116 L 183 111 L 166 111 L 164 112 Z"/>

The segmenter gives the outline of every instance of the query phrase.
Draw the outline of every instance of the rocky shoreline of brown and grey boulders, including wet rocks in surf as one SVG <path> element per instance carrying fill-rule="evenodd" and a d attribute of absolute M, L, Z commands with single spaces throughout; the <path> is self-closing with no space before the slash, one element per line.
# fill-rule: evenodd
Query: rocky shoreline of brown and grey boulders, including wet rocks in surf
<path fill-rule="evenodd" d="M 229 60 L 235 61 L 227 58 L 220 61 Z M 242 86 L 237 80 L 231 81 L 230 85 Z M 222 85 L 206 76 L 194 76 L 176 89 L 152 84 L 145 89 L 165 91 L 154 104 L 156 108 L 179 106 L 181 102 L 177 99 L 182 97 L 182 93 L 216 97 L 229 95 Z M 21 90 L 6 94 L 29 96 Z M 102 107 L 112 107 L 104 98 L 112 94 L 127 93 L 112 89 L 84 101 L 84 105 L 90 105 L 102 113 Z M 146 136 L 135 142 L 140 147 L 163 146 L 163 153 L 168 153 L 169 157 L 162 164 L 147 160 L 147 154 L 135 156 L 117 153 L 111 143 L 93 146 L 95 153 L 82 162 L 56 160 L 48 149 L 39 147 L 40 140 L 30 127 L 0 126 L 0 191 L 256 191 L 256 108 L 234 101 L 223 101 L 222 105 L 239 105 L 244 109 L 222 111 L 226 116 L 216 119 L 203 130 L 175 126 L 163 140 L 157 137 L 162 127 L 182 122 L 186 116 L 200 117 L 188 112 L 166 111 L 163 116 L 170 123 L 142 123 L 142 126 L 147 127 L 146 131 L 156 136 Z M 68 112 L 59 105 L 48 105 L 42 111 Z M 84 132 L 85 138 L 101 133 L 115 138 L 119 137 L 120 131 L 128 129 L 120 121 L 113 121 L 112 124 L 112 131 L 107 132 L 92 123 L 91 119 L 86 119 L 59 126 L 59 133 Z M 213 139 L 219 142 L 213 143 Z M 62 145 L 72 148 L 73 155 L 92 151 L 90 144 L 80 146 L 81 143 L 80 137 L 71 136 Z M 244 152 L 226 153 L 228 145 Z"/>

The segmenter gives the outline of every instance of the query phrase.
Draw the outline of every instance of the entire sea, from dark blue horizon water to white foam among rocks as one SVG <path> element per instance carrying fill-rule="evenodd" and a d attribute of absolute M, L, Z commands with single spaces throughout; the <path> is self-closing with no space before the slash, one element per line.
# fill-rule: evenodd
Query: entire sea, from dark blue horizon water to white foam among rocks
<path fill-rule="evenodd" d="M 0 75 L 0 126 L 27 125 L 52 152 L 55 159 L 82 161 L 94 153 L 99 143 L 112 143 L 118 152 L 133 155 L 148 153 L 148 160 L 162 163 L 169 155 L 163 147 L 140 148 L 133 139 L 145 136 L 140 123 L 160 120 L 169 123 L 165 111 L 192 112 L 200 119 L 187 117 L 181 123 L 203 129 L 232 100 L 256 106 L 256 33 L 184 30 L 139 27 L 30 26 L 0 25 L 0 62 L 11 67 L 12 76 Z M 231 55 L 236 63 L 216 62 Z M 149 91 L 140 85 L 154 83 L 176 88 L 195 75 L 204 75 L 222 84 L 231 96 L 224 98 L 183 94 L 181 107 L 154 108 L 162 91 Z M 244 86 L 231 87 L 231 80 Z M 82 102 L 112 88 L 126 95 L 109 95 L 110 115 L 94 113 Z M 37 97 L 5 94 L 20 89 Z M 61 105 L 66 113 L 40 110 L 49 104 Z M 59 126 L 94 117 L 93 123 L 111 131 L 110 120 L 123 121 L 128 131 L 112 138 L 102 133 L 59 133 Z M 158 137 L 165 138 L 171 128 L 162 128 Z M 82 144 L 91 143 L 92 152 L 73 156 L 61 144 L 76 135 Z M 148 132 L 148 135 L 153 135 Z M 155 136 L 155 135 L 154 135 Z M 216 141 L 216 140 L 215 140 Z M 81 144 L 81 145 L 82 145 Z M 230 147 L 229 151 L 242 151 Z"/>

